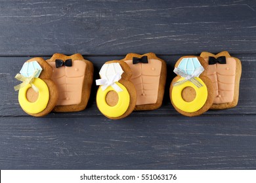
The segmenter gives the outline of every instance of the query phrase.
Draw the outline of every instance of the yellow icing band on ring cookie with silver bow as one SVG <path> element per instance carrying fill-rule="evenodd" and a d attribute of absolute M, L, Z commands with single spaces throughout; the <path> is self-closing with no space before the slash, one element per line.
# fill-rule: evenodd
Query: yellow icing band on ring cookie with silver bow
<path fill-rule="evenodd" d="M 177 82 L 181 80 L 184 80 L 184 78 L 180 78 Z M 187 81 L 184 84 L 178 86 L 173 86 L 173 91 L 171 92 L 171 99 L 173 100 L 173 104 L 184 112 L 196 112 L 200 110 L 200 108 L 203 107 L 207 100 L 207 87 L 200 78 L 196 77 L 196 80 L 203 84 L 203 86 L 198 88 L 190 81 Z M 182 90 L 184 90 L 184 88 L 188 86 L 194 88 L 194 90 L 196 91 L 195 99 L 190 102 L 186 102 L 182 98 Z"/>

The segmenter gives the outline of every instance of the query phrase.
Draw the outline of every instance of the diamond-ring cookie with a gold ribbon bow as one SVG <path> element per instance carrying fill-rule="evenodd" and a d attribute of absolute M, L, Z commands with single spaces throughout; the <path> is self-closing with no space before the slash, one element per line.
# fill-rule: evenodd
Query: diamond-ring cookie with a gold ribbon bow
<path fill-rule="evenodd" d="M 15 76 L 22 84 L 14 86 L 20 107 L 32 116 L 45 116 L 58 101 L 58 88 L 51 80 L 53 69 L 43 58 L 26 61 Z"/>

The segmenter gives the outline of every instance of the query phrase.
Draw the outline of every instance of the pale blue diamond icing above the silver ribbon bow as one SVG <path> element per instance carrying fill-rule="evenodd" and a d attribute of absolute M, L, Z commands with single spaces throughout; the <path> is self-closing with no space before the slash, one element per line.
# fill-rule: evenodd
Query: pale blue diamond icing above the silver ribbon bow
<path fill-rule="evenodd" d="M 192 75 L 198 67 L 202 67 L 198 58 L 183 58 L 178 65 L 178 68 L 187 75 Z"/>

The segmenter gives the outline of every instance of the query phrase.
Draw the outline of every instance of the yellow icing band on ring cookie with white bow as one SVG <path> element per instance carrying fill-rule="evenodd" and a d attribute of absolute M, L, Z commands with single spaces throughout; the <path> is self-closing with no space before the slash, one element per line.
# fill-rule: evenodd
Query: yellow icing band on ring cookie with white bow
<path fill-rule="evenodd" d="M 104 91 L 101 89 L 101 86 L 100 86 L 100 88 L 98 88 L 98 92 L 96 95 L 96 103 L 100 112 L 112 118 L 116 118 L 123 115 L 127 111 L 127 108 L 129 107 L 129 103 L 130 103 L 130 95 L 127 89 L 125 88 L 125 86 L 123 86 L 123 84 L 119 82 L 116 82 L 116 84 L 123 91 L 117 92 L 118 102 L 115 106 L 110 106 L 106 103 L 106 95 L 108 94 L 108 92 L 114 90 L 112 86 L 108 86 L 108 88 L 106 88 L 106 90 Z"/>

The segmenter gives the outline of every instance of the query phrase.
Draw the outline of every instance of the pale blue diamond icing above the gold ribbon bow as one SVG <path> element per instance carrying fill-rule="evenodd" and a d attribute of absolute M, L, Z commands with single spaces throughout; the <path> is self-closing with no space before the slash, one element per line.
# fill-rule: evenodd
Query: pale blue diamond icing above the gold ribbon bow
<path fill-rule="evenodd" d="M 38 70 L 35 78 L 38 78 L 41 74 L 41 71 L 43 70 L 39 63 L 37 63 L 37 61 L 25 62 L 22 66 L 22 69 L 20 70 L 20 74 L 25 77 L 30 77 L 35 72 L 35 69 Z"/>

